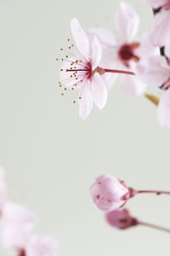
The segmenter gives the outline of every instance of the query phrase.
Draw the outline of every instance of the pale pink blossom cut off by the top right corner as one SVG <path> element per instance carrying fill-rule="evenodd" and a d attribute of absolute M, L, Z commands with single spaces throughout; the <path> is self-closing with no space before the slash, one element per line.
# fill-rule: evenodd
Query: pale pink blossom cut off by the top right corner
<path fill-rule="evenodd" d="M 150 28 L 150 39 L 155 46 L 165 46 L 165 54 L 170 57 L 170 0 L 144 0 L 156 13 Z"/>

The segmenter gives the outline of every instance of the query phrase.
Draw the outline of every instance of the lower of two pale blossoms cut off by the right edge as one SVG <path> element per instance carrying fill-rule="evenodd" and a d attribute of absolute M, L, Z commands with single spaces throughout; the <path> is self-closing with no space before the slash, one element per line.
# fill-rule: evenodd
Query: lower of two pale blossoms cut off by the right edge
<path fill-rule="evenodd" d="M 156 56 L 142 61 L 137 73 L 145 82 L 162 90 L 157 116 L 161 126 L 170 128 L 170 66 L 166 59 L 163 56 Z"/>

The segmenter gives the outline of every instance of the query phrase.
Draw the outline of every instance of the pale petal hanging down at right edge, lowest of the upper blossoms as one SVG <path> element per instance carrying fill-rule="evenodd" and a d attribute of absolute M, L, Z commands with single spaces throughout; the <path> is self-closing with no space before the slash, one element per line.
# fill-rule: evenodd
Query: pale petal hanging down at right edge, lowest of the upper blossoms
<path fill-rule="evenodd" d="M 157 108 L 158 120 L 164 128 L 170 128 L 170 90 L 163 91 Z"/>

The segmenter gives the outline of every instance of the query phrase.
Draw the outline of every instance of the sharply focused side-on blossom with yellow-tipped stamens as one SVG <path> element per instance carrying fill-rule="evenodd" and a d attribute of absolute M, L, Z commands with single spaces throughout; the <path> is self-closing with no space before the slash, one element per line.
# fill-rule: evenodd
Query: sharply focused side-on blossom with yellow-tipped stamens
<path fill-rule="evenodd" d="M 61 68 L 61 83 L 71 90 L 78 89 L 79 114 L 82 119 L 88 117 L 93 102 L 99 109 L 105 107 L 107 89 L 99 61 L 102 50 L 97 38 L 89 44 L 88 35 L 82 30 L 77 19 L 71 20 L 71 32 L 75 40 L 75 52 Z"/>

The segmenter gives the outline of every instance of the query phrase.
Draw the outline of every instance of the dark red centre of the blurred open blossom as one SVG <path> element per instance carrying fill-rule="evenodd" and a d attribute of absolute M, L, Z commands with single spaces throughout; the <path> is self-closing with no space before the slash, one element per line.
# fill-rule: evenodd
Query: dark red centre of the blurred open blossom
<path fill-rule="evenodd" d="M 139 61 L 139 56 L 134 54 L 134 49 L 139 47 L 139 43 L 123 44 L 118 51 L 118 56 L 126 67 L 129 67 L 129 61 Z"/>

